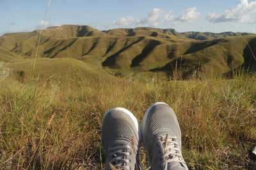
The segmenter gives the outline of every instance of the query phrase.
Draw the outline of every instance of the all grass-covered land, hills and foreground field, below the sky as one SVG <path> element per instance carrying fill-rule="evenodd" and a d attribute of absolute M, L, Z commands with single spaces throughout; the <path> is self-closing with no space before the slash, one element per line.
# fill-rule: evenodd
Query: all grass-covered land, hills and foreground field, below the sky
<path fill-rule="evenodd" d="M 0 169 L 100 169 L 104 113 L 141 122 L 157 101 L 177 114 L 191 169 L 256 167 L 255 35 L 63 25 L 36 46 L 38 35 L 0 37 Z"/>

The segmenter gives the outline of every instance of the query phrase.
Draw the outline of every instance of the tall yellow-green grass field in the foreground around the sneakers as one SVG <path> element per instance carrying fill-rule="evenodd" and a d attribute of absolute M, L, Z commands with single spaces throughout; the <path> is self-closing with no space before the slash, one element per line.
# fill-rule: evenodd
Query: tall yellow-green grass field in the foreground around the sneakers
<path fill-rule="evenodd" d="M 0 81 L 0 169 L 104 168 L 104 113 L 120 106 L 141 122 L 157 101 L 170 104 L 177 114 L 189 168 L 256 167 L 251 152 L 256 143 L 255 74 L 188 81 L 166 81 L 156 74 L 143 82 L 97 74 L 38 77 L 21 82 L 11 75 Z M 141 161 L 146 167 L 143 148 Z"/>

